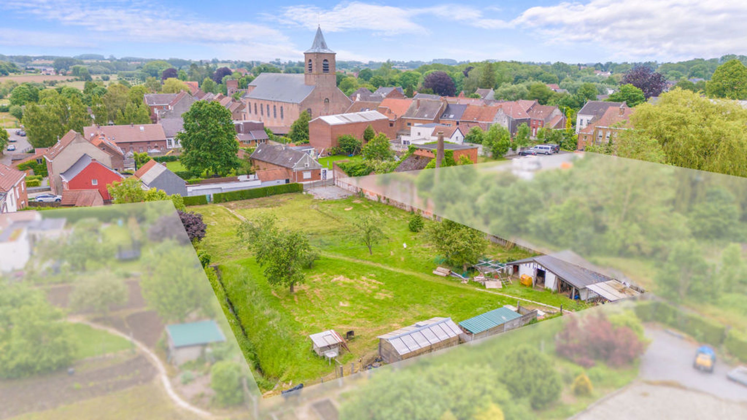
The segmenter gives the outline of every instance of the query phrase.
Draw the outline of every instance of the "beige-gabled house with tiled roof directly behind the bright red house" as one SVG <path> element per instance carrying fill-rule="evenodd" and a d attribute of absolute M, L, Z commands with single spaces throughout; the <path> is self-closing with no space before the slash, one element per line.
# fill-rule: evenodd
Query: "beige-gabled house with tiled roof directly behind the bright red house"
<path fill-rule="evenodd" d="M 93 136 L 90 136 L 93 139 Z M 52 193 L 61 194 L 63 191 L 60 174 L 65 172 L 77 162 L 81 156 L 88 155 L 100 164 L 114 170 L 124 170 L 123 155 L 120 152 L 111 152 L 116 147 L 108 139 L 104 144 L 96 146 L 87 138 L 70 130 L 54 146 L 50 147 L 44 154 L 47 172 L 49 173 L 49 186 Z"/>

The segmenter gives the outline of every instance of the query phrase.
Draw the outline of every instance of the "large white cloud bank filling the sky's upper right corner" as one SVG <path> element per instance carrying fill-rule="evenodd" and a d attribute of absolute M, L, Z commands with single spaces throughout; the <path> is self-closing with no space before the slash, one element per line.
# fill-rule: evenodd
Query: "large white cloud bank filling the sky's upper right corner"
<path fill-rule="evenodd" d="M 686 59 L 747 52 L 747 1 L 592 0 L 531 7 L 511 23 L 551 43 L 592 43 L 613 58 Z"/>

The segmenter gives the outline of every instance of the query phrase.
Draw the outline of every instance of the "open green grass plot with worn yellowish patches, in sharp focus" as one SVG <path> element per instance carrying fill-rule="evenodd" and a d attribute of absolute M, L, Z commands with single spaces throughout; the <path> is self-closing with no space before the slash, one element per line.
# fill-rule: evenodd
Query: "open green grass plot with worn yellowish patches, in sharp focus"
<path fill-rule="evenodd" d="M 351 351 L 338 359 L 348 366 L 350 362 L 366 364 L 375 358 L 376 336 L 382 333 L 434 316 L 459 322 L 516 304 L 513 297 L 477 290 L 474 282 L 465 285 L 453 277 L 432 274 L 438 256 L 425 233 L 409 231 L 408 212 L 381 203 L 358 197 L 320 201 L 306 194 L 283 194 L 190 207 L 190 211 L 202 213 L 208 225 L 199 249 L 220 266 L 226 294 L 247 331 L 252 356 L 264 372 L 265 380 L 258 380 L 264 389 L 276 381 L 308 384 L 332 374 L 332 366 L 311 352 L 311 333 L 355 331 Z M 385 233 L 372 256 L 352 235 L 355 217 L 371 212 L 382 218 Z M 306 283 L 297 286 L 294 294 L 268 285 L 262 269 L 236 236 L 239 216 L 250 220 L 267 213 L 274 214 L 280 226 L 306 231 L 320 252 L 320 259 L 306 273 Z M 500 261 L 529 255 L 495 245 L 488 254 Z M 583 307 L 560 295 L 518 285 L 504 292 L 568 309 Z"/>

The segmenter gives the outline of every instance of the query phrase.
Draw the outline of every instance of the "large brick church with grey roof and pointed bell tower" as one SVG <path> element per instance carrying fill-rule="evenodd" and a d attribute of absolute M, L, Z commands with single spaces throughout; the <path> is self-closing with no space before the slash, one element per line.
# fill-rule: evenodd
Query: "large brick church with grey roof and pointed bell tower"
<path fill-rule="evenodd" d="M 321 28 L 303 54 L 303 74 L 261 73 L 247 87 L 244 120 L 261 121 L 275 134 L 285 135 L 302 111 L 311 119 L 341 114 L 352 103 L 337 87 L 335 52 L 327 48 Z"/>

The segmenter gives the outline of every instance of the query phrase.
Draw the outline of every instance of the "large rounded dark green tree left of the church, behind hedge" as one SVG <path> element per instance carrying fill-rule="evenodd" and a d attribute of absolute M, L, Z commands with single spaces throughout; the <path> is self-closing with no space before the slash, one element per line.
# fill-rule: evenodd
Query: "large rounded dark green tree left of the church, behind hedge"
<path fill-rule="evenodd" d="M 241 166 L 231 111 L 220 102 L 197 101 L 182 115 L 182 164 L 189 170 L 226 175 Z"/>

